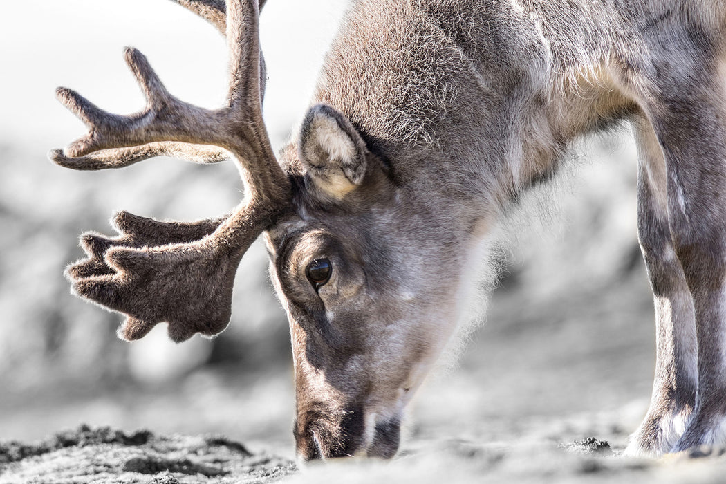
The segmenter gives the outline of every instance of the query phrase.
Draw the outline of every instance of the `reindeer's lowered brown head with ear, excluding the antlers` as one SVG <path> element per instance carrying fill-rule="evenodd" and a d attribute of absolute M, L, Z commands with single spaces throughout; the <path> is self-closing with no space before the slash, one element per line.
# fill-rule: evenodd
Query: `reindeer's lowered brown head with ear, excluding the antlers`
<path fill-rule="evenodd" d="M 393 456 L 442 322 L 455 319 L 436 277 L 451 241 L 412 213 L 408 189 L 332 107 L 309 110 L 282 165 L 294 213 L 265 239 L 290 321 L 298 453 Z"/>

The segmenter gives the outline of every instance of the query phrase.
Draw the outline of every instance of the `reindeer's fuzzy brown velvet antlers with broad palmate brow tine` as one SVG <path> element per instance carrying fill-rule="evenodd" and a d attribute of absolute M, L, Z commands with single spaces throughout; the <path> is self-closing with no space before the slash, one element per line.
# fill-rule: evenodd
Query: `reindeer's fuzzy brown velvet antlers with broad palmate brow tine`
<path fill-rule="evenodd" d="M 122 212 L 113 221 L 120 237 L 82 236 L 89 258 L 66 271 L 73 291 L 126 314 L 119 330 L 126 340 L 143 337 L 161 321 L 168 322 L 174 341 L 196 332 L 221 332 L 231 316 L 232 283 L 242 255 L 290 210 L 290 183 L 275 160 L 262 120 L 258 1 L 175 1 L 224 27 L 230 71 L 227 104 L 206 110 L 176 99 L 135 49 L 126 49 L 126 62 L 147 98 L 142 112 L 111 114 L 75 91 L 57 90 L 61 102 L 89 128 L 65 154 L 51 152 L 60 165 L 116 168 L 159 154 L 212 163 L 225 152 L 240 163 L 245 200 L 227 218 L 159 222 Z"/>

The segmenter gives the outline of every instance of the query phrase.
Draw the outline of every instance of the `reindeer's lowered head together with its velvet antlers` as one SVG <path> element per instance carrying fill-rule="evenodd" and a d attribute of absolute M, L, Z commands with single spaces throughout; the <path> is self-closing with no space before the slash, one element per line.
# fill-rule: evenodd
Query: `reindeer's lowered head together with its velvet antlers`
<path fill-rule="evenodd" d="M 119 237 L 82 237 L 89 257 L 68 268 L 73 291 L 126 314 L 119 335 L 127 340 L 162 321 L 175 341 L 216 335 L 231 316 L 237 263 L 264 233 L 290 321 L 298 454 L 391 457 L 402 411 L 457 316 L 458 241 L 333 107 L 309 110 L 278 164 L 261 119 L 257 0 L 179 3 L 227 35 L 227 104 L 181 102 L 129 49 L 147 108 L 112 115 L 59 89 L 89 134 L 50 156 L 88 170 L 156 155 L 211 163 L 231 154 L 245 201 L 227 217 L 196 223 L 118 214 Z"/>

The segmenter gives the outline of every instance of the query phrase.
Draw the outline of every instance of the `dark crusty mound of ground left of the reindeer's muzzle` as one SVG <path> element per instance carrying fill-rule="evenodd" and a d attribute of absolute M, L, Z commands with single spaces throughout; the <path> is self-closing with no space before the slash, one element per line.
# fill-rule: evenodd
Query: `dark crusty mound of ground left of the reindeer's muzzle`
<path fill-rule="evenodd" d="M 37 443 L 0 443 L 0 483 L 269 483 L 293 472 L 293 462 L 219 435 L 81 425 Z"/>

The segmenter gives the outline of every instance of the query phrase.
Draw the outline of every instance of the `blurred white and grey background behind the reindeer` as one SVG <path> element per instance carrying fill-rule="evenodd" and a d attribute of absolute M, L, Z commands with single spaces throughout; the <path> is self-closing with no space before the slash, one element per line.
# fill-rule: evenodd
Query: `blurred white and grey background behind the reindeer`
<path fill-rule="evenodd" d="M 306 110 L 346 3 L 266 6 L 264 115 L 276 148 Z M 143 106 L 123 62 L 126 45 L 144 52 L 181 99 L 204 107 L 224 100 L 223 38 L 169 1 L 14 2 L 0 16 L 0 439 L 33 440 L 87 422 L 224 432 L 291 455 L 287 321 L 259 241 L 237 273 L 232 322 L 215 340 L 174 345 L 160 325 L 123 343 L 115 337 L 121 316 L 72 297 L 62 276 L 83 255 L 79 234 L 113 234 L 115 210 L 191 221 L 241 197 L 232 163 L 158 158 L 73 172 L 46 159 L 85 131 L 54 99 L 56 86 L 111 112 Z M 590 419 L 625 435 L 643 417 L 653 306 L 637 246 L 635 147 L 624 129 L 588 140 L 572 158 L 571 170 L 508 223 L 506 269 L 486 324 L 470 335 L 458 367 L 421 390 L 412 441 L 442 432 L 497 440 L 552 416 L 560 430 L 561 419 Z"/>

